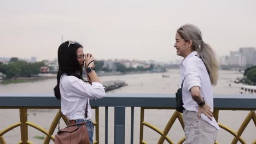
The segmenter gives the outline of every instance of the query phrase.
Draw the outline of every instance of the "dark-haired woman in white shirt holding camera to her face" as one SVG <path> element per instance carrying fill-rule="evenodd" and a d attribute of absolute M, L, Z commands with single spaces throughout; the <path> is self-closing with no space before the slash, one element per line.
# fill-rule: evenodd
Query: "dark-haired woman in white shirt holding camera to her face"
<path fill-rule="evenodd" d="M 83 52 L 76 41 L 62 43 L 58 50 L 59 71 L 54 94 L 61 100 L 61 112 L 69 124 L 86 122 L 90 143 L 93 143 L 94 123 L 89 99 L 104 98 L 105 91 L 94 70 L 94 57 Z M 83 79 L 85 67 L 88 81 Z"/>

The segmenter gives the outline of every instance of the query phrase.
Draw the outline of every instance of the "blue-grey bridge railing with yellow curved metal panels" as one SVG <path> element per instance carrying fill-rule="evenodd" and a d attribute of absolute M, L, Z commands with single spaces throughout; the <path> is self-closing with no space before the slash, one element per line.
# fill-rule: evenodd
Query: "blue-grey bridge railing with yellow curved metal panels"
<path fill-rule="evenodd" d="M 234 130 L 229 128 L 228 126 L 219 122 L 220 128 L 227 131 L 230 135 L 233 136 L 232 140 L 229 143 L 237 143 L 238 141 L 241 143 L 248 143 L 245 139 L 243 139 L 243 131 L 247 129 L 249 122 L 253 121 L 255 124 L 253 131 L 256 128 L 256 97 L 255 95 L 222 95 L 215 94 L 214 95 L 214 111 L 213 115 L 216 118 L 217 122 L 219 119 L 219 111 L 248 111 L 248 115 L 243 117 L 243 122 L 239 125 L 238 130 Z M 152 143 L 145 137 L 146 128 L 153 131 L 154 135 L 158 135 L 157 143 L 174 143 L 174 141 L 168 136 L 171 128 L 173 128 L 173 124 L 178 119 L 181 124 L 182 129 L 184 129 L 184 123 L 182 119 L 182 114 L 174 111 L 175 106 L 175 98 L 174 95 L 170 94 L 107 94 L 106 98 L 99 99 L 96 101 L 90 102 L 92 109 L 95 110 L 95 140 L 94 143 L 102 143 L 102 137 L 104 137 L 104 143 L 108 143 L 109 139 L 113 139 L 114 143 Z M 109 109 L 114 107 L 113 112 L 113 121 L 109 121 Z M 129 110 L 127 110 L 129 108 Z M 135 121 L 135 108 L 139 109 L 139 125 L 135 125 L 138 123 Z M 13 137 L 13 139 L 18 139 L 18 143 L 33 143 L 31 140 L 28 140 L 29 130 L 28 127 L 32 127 L 34 129 L 39 130 L 42 134 L 45 135 L 43 143 L 53 143 L 54 141 L 54 131 L 56 131 L 57 124 L 60 119 L 63 118 L 64 122 L 67 124 L 67 118 L 61 114 L 60 111 L 56 111 L 56 115 L 52 120 L 49 129 L 45 129 L 42 126 L 28 121 L 27 119 L 27 110 L 29 109 L 60 109 L 60 101 L 56 100 L 53 95 L 45 94 L 45 95 L 33 95 L 33 94 L 25 94 L 25 95 L 13 95 L 13 94 L 1 94 L 0 95 L 0 109 L 19 109 L 20 117 L 17 119 L 17 123 L 13 123 L 7 127 L 0 128 L 0 143 L 8 143 L 5 141 L 4 136 L 7 133 L 11 133 L 11 130 L 20 127 L 20 139 L 19 137 Z M 101 109 L 101 110 L 100 110 Z M 104 110 L 102 110 L 104 109 Z M 145 112 L 150 110 L 160 110 L 160 112 L 150 112 L 149 117 L 152 119 L 156 119 L 158 121 L 158 117 L 155 117 L 154 113 L 160 113 L 161 110 L 171 110 L 173 114 L 168 117 L 168 121 L 165 123 L 164 129 L 160 129 L 156 127 L 156 125 L 145 121 Z M 100 111 L 103 111 L 100 114 Z M 129 111 L 129 113 L 126 113 Z M 127 115 L 129 115 L 127 122 Z M 165 113 L 163 113 L 165 115 Z M 1 113 L 0 113 L 1 116 Z M 137 116 L 137 115 L 136 115 Z M 40 115 L 38 116 L 40 117 Z M 165 117 L 165 116 L 163 116 Z M 103 120 L 102 120 L 103 118 Z M 232 121 L 232 117 L 229 117 L 230 121 Z M 3 118 L 1 118 L 2 121 Z M 4 118 L 5 121 L 8 121 L 8 118 Z M 42 121 L 44 121 L 42 117 Z M 100 128 L 100 119 L 104 122 L 104 128 Z M 110 125 L 114 123 L 114 128 L 110 128 Z M 127 123 L 129 123 L 129 137 L 127 137 Z M 134 137 L 137 136 L 134 133 L 137 131 L 134 130 L 135 126 L 139 127 L 139 140 L 134 141 Z M 100 130 L 101 129 L 101 130 Z M 104 129 L 104 131 L 102 131 Z M 109 133 L 109 129 L 113 129 Z M 175 130 L 174 130 L 175 131 Z M 110 135 L 114 133 L 114 137 L 111 138 Z M 171 132 L 170 132 L 171 133 Z M 182 136 L 181 139 L 178 140 L 177 143 L 182 143 L 184 141 L 184 133 L 183 131 L 179 131 Z M 255 135 L 254 135 L 255 136 Z M 150 136 L 149 136 L 150 137 Z M 153 136 L 152 136 L 153 137 Z M 127 142 L 129 139 L 129 142 Z M 253 143 L 256 143 L 255 137 L 253 138 Z M 218 143 L 218 139 L 216 141 Z"/>

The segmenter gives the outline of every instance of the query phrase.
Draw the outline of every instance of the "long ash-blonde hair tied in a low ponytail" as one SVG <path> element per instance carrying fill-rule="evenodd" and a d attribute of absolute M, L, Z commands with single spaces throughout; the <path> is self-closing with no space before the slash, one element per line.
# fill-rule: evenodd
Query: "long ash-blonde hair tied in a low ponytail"
<path fill-rule="evenodd" d="M 216 53 L 209 44 L 206 44 L 202 40 L 200 29 L 194 25 L 185 24 L 177 29 L 177 33 L 179 33 L 185 41 L 192 40 L 193 49 L 199 53 L 210 75 L 212 85 L 216 86 L 219 77 L 219 64 Z"/>

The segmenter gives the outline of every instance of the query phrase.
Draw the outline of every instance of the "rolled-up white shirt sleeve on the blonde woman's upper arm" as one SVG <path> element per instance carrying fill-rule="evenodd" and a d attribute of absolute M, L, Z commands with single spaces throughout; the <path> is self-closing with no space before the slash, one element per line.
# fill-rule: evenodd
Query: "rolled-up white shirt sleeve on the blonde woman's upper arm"
<path fill-rule="evenodd" d="M 188 84 L 188 91 L 192 87 L 198 86 L 201 88 L 201 76 L 200 76 L 200 63 L 194 61 L 185 63 L 185 81 Z"/>

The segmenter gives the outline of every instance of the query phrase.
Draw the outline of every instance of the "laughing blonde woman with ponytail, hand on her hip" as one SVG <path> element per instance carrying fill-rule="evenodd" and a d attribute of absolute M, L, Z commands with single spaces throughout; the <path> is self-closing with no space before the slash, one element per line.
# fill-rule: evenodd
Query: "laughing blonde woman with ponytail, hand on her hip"
<path fill-rule="evenodd" d="M 220 129 L 212 115 L 212 86 L 217 84 L 219 68 L 216 56 L 194 25 L 179 27 L 175 39 L 177 55 L 184 58 L 180 64 L 181 81 L 184 81 L 184 143 L 214 143 Z"/>

